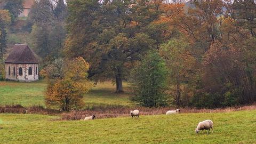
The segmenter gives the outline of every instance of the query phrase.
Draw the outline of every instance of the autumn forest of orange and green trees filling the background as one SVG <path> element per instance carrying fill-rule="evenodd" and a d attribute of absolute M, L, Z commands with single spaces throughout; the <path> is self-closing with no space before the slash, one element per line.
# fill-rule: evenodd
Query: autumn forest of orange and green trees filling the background
<path fill-rule="evenodd" d="M 55 87 L 86 76 L 111 80 L 122 93 L 122 82 L 129 81 L 131 100 L 148 107 L 256 101 L 254 1 L 41 0 L 27 20 L 17 15 L 21 0 L 3 3 L 1 54 L 8 45 L 29 44 Z M 69 63 L 81 58 L 90 65 L 87 73 L 69 74 Z"/>

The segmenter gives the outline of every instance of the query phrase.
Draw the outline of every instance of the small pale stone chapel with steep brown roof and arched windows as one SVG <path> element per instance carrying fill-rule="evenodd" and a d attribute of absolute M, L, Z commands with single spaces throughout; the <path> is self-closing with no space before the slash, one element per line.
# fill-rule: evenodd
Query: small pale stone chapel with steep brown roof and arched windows
<path fill-rule="evenodd" d="M 25 44 L 16 44 L 5 60 L 5 79 L 33 82 L 38 80 L 38 60 Z"/>

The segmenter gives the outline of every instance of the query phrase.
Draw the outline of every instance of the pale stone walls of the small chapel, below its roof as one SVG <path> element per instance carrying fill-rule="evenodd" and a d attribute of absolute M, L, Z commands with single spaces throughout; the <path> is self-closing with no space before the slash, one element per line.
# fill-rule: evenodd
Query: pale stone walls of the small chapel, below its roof
<path fill-rule="evenodd" d="M 10 67 L 10 75 L 9 75 Z M 28 74 L 29 67 L 32 68 L 32 75 Z M 14 70 L 15 68 L 15 75 Z M 22 75 L 19 75 L 19 68 L 22 68 Z M 36 74 L 37 68 L 37 74 Z M 5 63 L 5 78 L 13 81 L 32 82 L 38 80 L 38 64 L 15 64 Z"/>

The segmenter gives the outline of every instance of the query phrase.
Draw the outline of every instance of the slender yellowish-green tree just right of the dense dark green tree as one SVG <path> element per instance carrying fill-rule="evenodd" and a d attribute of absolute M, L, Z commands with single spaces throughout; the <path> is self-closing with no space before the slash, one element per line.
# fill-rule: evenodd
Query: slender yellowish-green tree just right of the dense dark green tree
<path fill-rule="evenodd" d="M 171 39 L 162 44 L 160 54 L 166 61 L 170 95 L 175 105 L 188 105 L 193 95 L 196 76 L 196 59 L 188 51 L 189 44 L 184 39 Z"/>

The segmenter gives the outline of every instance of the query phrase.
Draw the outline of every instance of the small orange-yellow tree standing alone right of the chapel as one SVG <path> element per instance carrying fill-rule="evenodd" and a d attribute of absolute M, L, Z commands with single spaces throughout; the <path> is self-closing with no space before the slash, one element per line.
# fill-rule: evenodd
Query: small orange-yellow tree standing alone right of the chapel
<path fill-rule="evenodd" d="M 83 94 L 87 93 L 92 85 L 87 80 L 89 64 L 82 57 L 65 62 L 63 76 L 58 75 L 52 77 L 55 79 L 50 79 L 45 103 L 47 107 L 58 107 L 60 110 L 69 111 L 83 107 Z M 48 76 L 52 75 L 52 71 L 56 73 L 51 68 L 47 69 Z"/>

